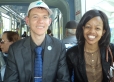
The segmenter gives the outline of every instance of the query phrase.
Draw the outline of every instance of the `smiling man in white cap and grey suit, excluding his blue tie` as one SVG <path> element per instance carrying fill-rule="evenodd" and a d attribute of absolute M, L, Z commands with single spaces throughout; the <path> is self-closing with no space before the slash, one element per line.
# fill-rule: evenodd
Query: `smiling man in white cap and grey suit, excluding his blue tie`
<path fill-rule="evenodd" d="M 26 23 L 31 35 L 10 46 L 4 82 L 35 82 L 36 79 L 41 79 L 40 82 L 69 82 L 65 45 L 46 35 L 51 14 L 43 1 L 35 1 L 29 5 Z M 37 46 L 43 48 L 41 77 L 36 77 L 34 71 Z"/>

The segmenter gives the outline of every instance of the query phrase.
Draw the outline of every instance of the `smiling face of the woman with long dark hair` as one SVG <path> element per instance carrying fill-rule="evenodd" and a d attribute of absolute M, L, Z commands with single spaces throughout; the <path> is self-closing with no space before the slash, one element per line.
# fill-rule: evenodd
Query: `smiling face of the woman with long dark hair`
<path fill-rule="evenodd" d="M 103 30 L 103 21 L 97 16 L 89 20 L 85 26 L 83 26 L 83 33 L 85 42 L 90 45 L 98 45 L 99 40 L 105 33 Z"/>

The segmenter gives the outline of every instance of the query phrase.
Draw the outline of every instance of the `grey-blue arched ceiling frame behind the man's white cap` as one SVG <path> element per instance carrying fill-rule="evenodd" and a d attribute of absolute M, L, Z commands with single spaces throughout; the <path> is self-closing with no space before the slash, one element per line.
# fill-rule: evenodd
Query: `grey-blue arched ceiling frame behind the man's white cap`
<path fill-rule="evenodd" d="M 28 7 L 29 3 L 33 1 L 36 1 L 36 0 L 0 0 L 0 5 L 18 5 L 18 7 L 19 6 Z M 66 22 L 70 20 L 69 5 L 66 0 L 43 0 L 43 1 L 46 2 L 50 7 L 58 8 L 62 12 L 63 25 L 65 25 Z M 23 8 L 24 10 L 27 11 L 25 7 Z"/>

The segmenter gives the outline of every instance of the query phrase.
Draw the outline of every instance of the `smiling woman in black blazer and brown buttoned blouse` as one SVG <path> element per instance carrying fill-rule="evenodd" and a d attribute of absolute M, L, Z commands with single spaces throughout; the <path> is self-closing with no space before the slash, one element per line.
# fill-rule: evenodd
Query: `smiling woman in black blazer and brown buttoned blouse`
<path fill-rule="evenodd" d="M 105 13 L 100 10 L 86 12 L 77 26 L 76 37 L 78 45 L 66 53 L 70 75 L 74 70 L 74 82 L 109 82 L 114 45 L 110 44 L 110 27 Z"/>

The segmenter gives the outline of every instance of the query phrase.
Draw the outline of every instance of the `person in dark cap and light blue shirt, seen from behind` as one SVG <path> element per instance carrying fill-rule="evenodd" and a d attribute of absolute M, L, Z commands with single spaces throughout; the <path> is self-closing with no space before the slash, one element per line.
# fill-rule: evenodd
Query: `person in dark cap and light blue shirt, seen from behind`
<path fill-rule="evenodd" d="M 62 40 L 66 46 L 66 48 L 70 48 L 73 45 L 76 45 L 76 27 L 78 23 L 76 21 L 69 21 L 67 22 L 65 28 L 66 28 L 66 37 Z"/>

